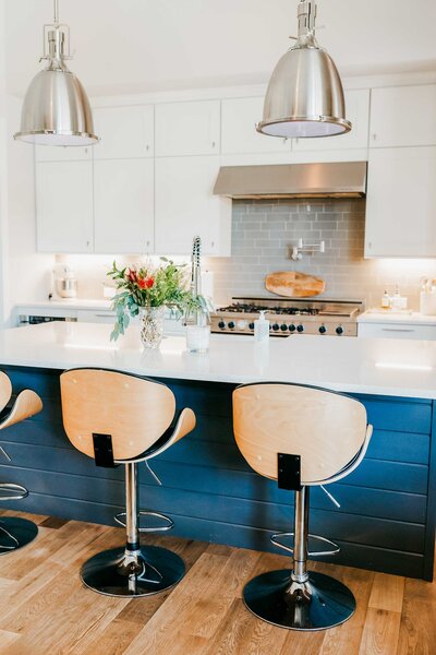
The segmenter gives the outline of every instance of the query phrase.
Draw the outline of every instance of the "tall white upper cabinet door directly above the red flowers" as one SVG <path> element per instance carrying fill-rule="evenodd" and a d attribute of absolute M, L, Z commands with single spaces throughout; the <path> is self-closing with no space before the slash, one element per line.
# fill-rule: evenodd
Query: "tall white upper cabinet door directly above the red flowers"
<path fill-rule="evenodd" d="M 95 252 L 153 252 L 153 159 L 94 163 Z"/>

